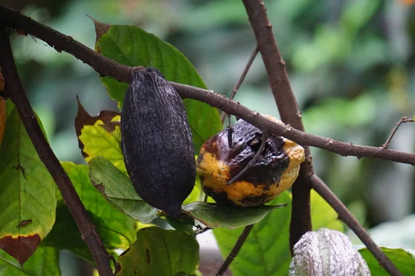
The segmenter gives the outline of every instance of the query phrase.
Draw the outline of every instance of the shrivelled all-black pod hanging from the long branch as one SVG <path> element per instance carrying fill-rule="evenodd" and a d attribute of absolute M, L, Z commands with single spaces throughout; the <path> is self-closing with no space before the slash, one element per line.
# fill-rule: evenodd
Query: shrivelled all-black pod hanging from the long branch
<path fill-rule="evenodd" d="M 185 106 L 155 68 L 136 68 L 121 112 L 124 162 L 138 195 L 170 217 L 194 186 L 196 164 Z"/>

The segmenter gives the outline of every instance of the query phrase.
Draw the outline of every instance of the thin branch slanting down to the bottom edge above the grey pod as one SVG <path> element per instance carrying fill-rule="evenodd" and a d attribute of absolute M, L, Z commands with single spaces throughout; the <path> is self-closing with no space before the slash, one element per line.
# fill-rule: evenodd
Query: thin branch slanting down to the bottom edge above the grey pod
<path fill-rule="evenodd" d="M 390 275 L 400 276 L 402 273 L 396 268 L 391 260 L 380 250 L 373 239 L 371 239 L 369 233 L 359 224 L 355 217 L 347 210 L 346 206 L 342 204 L 342 201 L 336 197 L 329 187 L 324 184 L 322 179 L 313 175 L 310 178 L 310 185 L 319 193 L 326 201 L 333 207 L 333 209 L 339 214 L 340 219 L 344 221 L 351 230 L 359 237 L 359 239 L 367 246 L 369 251 L 378 259 L 380 266 L 383 266 Z"/>

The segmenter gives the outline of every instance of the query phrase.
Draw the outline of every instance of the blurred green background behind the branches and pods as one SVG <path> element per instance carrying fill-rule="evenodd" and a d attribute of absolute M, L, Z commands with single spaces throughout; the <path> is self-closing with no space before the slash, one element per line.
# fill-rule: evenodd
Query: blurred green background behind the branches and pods
<path fill-rule="evenodd" d="M 181 50 L 208 87 L 225 95 L 230 95 L 256 44 L 243 4 L 236 0 L 2 2 L 91 48 L 95 29 L 86 14 L 105 23 L 139 26 Z M 396 121 L 414 115 L 411 2 L 265 1 L 306 131 L 381 146 Z M 57 157 L 84 162 L 73 126 L 75 96 L 93 115 L 116 110 L 116 103 L 107 96 L 98 73 L 82 61 L 39 39 L 17 34 L 12 39 L 21 79 Z M 235 100 L 278 117 L 259 55 Z M 401 126 L 390 148 L 414 152 L 415 125 Z M 415 218 L 410 216 L 415 207 L 413 166 L 312 151 L 317 174 L 362 224 L 372 228 L 405 219 L 405 227 L 396 228 L 402 235 L 392 242 L 385 239 L 415 248 Z M 408 229 L 412 231 L 405 232 Z"/>

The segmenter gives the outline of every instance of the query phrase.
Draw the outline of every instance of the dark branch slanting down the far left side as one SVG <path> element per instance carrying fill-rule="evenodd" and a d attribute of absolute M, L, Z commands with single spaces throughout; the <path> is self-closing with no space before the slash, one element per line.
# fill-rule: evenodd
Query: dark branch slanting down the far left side
<path fill-rule="evenodd" d="M 15 103 L 21 121 L 28 132 L 33 146 L 35 146 L 37 154 L 48 169 L 50 175 L 52 175 L 53 180 L 55 180 L 66 206 L 71 211 L 73 219 L 75 219 L 82 235 L 82 239 L 84 239 L 91 251 L 98 272 L 100 275 L 113 275 L 107 250 L 104 248 L 95 226 L 91 223 L 80 197 L 78 197 L 75 188 L 73 188 L 71 180 L 50 148 L 37 122 L 35 112 L 33 112 L 30 106 L 28 97 L 26 97 L 19 75 L 17 74 L 8 34 L 4 31 L 3 26 L 0 26 L 0 67 L 3 69 L 8 97 Z"/>

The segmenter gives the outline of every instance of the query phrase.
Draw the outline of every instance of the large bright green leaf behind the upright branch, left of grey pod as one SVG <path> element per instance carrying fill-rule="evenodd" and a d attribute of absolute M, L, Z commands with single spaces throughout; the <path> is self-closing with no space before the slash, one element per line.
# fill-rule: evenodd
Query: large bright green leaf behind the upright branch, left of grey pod
<path fill-rule="evenodd" d="M 289 248 L 289 226 L 291 219 L 291 193 L 282 193 L 269 204 L 288 204 L 288 208 L 269 213 L 252 228 L 236 259 L 230 265 L 232 275 L 246 275 L 246 271 L 255 271 L 256 276 L 288 275 L 291 262 Z M 322 215 L 324 214 L 324 216 Z M 343 231 L 343 225 L 337 219 L 335 211 L 317 193 L 311 193 L 311 216 L 313 229 L 329 226 L 333 230 Z M 327 217 L 327 219 L 326 219 Z M 214 236 L 223 257 L 228 256 L 242 229 L 214 229 Z M 255 253 L 255 254 L 252 254 Z"/>

